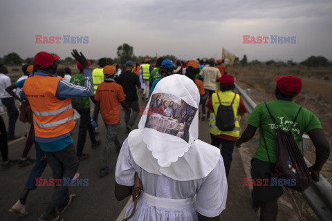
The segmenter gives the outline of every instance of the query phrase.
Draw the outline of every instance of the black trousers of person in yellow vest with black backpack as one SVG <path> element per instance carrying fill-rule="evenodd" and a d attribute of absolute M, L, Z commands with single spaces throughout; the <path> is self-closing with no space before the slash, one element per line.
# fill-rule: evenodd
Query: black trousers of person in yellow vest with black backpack
<path fill-rule="evenodd" d="M 226 177 L 230 174 L 230 164 L 232 163 L 232 153 L 235 146 L 235 141 L 224 140 L 219 137 L 211 136 L 211 145 L 220 148 L 221 155 L 223 156 L 223 164 L 225 165 Z M 220 147 L 221 145 L 221 147 Z"/>

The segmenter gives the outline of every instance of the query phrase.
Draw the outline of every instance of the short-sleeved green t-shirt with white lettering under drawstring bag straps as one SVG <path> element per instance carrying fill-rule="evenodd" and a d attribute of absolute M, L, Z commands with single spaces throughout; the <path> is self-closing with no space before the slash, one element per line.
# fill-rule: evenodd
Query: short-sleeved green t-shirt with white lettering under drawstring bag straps
<path fill-rule="evenodd" d="M 266 102 L 266 104 L 279 126 L 282 126 L 284 131 L 289 131 L 293 125 L 293 120 L 295 119 L 300 106 L 286 100 L 274 100 Z M 259 146 L 254 157 L 268 162 L 266 146 L 263 136 L 261 135 L 261 130 L 263 130 L 266 145 L 268 146 L 270 160 L 272 163 L 277 162 L 277 153 L 275 148 L 277 128 L 275 124 L 273 124 L 273 120 L 270 118 L 264 103 L 256 106 L 247 120 L 247 123 L 251 126 L 259 128 Z M 299 146 L 299 142 L 302 140 L 303 133 L 308 133 L 308 131 L 315 128 L 322 128 L 320 120 L 311 111 L 306 110 L 306 108 L 302 108 L 292 129 L 293 137 L 295 138 L 297 146 Z M 300 146 L 299 149 L 301 149 Z"/>

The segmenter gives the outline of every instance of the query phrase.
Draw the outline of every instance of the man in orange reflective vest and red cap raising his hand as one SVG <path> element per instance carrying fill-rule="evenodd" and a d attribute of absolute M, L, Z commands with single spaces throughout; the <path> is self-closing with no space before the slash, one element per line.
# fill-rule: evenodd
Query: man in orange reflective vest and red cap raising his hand
<path fill-rule="evenodd" d="M 78 169 L 78 159 L 73 145 L 71 131 L 75 126 L 71 98 L 93 96 L 93 81 L 88 61 L 82 52 L 71 53 L 82 64 L 84 86 L 77 86 L 55 77 L 57 55 L 39 52 L 35 56 L 37 73 L 26 79 L 21 97 L 26 97 L 33 111 L 35 139 L 45 152 L 50 169 L 55 179 L 62 179 L 60 186 L 55 186 L 45 213 L 40 221 L 62 220 L 59 214 L 64 213 L 68 205 L 75 200 L 69 195 L 68 185 Z"/>

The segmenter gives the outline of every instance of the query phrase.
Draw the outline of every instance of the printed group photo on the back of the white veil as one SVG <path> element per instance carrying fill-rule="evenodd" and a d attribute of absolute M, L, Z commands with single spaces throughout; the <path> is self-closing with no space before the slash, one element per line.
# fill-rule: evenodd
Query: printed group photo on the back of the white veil
<path fill-rule="evenodd" d="M 189 128 L 197 108 L 190 106 L 180 97 L 156 93 L 151 97 L 146 128 L 180 137 L 189 141 Z"/>

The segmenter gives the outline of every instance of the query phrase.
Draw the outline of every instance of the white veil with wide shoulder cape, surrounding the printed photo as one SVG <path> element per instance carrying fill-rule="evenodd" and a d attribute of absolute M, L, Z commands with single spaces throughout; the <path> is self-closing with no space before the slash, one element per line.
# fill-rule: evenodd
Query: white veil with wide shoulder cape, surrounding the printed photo
<path fill-rule="evenodd" d="M 168 95 L 176 102 L 182 99 L 181 105 L 186 103 L 185 105 L 192 106 L 193 110 L 196 108 L 187 141 L 156 131 L 151 125 L 145 127 L 149 116 L 145 113 L 149 113 L 151 98 L 156 97 L 158 93 L 163 93 L 164 97 Z M 131 131 L 128 136 L 129 149 L 138 166 L 149 173 L 165 175 L 179 181 L 201 179 L 214 169 L 221 155 L 219 148 L 198 140 L 199 99 L 196 84 L 185 75 L 171 75 L 158 82 L 140 119 L 138 129 Z"/>

